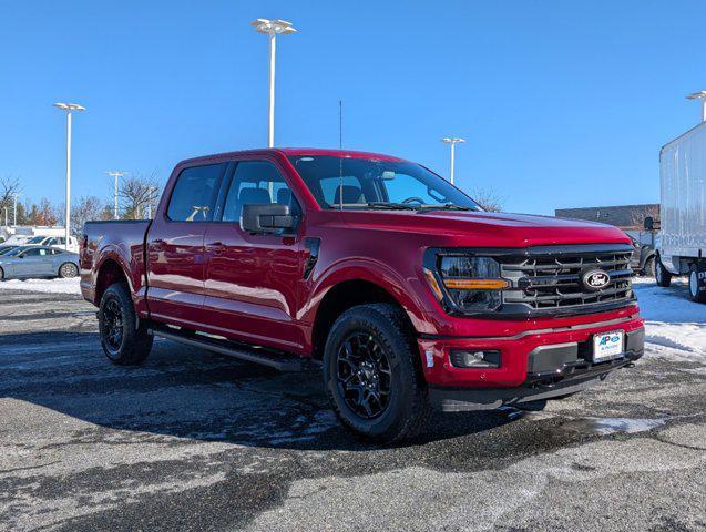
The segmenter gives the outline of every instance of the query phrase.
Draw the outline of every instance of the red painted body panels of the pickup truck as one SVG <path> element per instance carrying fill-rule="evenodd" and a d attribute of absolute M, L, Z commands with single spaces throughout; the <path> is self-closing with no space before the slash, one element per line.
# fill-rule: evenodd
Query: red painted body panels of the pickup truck
<path fill-rule="evenodd" d="M 583 341 L 592 334 L 642 327 L 636 305 L 603 314 L 531 319 L 477 319 L 447 314 L 422 274 L 429 247 L 524 248 L 561 244 L 628 244 L 620 229 L 544 216 L 484 212 L 323 209 L 289 164 L 288 155 L 335 155 L 399 161 L 378 154 L 327 150 L 258 150 L 180 163 L 153 222 L 91 223 L 81 253 L 84 297 L 99 304 L 120 274 L 142 319 L 183 326 L 303 356 L 314 351 L 314 324 L 326 294 L 347 280 L 386 290 L 418 332 L 430 383 L 513 387 L 526 377 L 528 354 L 540 345 Z M 164 213 L 174 182 L 188 166 L 224 161 L 270 161 L 303 207 L 295 237 L 252 235 L 237 223 L 175 223 Z M 320 238 L 320 254 L 304 279 L 305 237 Z M 146 257 L 146 264 L 145 258 Z M 110 264 L 110 267 L 105 265 Z M 595 324 L 595 325 L 594 325 Z M 551 330 L 548 330 L 551 329 Z M 451 348 L 500 349 L 503 367 L 459 369 Z"/>

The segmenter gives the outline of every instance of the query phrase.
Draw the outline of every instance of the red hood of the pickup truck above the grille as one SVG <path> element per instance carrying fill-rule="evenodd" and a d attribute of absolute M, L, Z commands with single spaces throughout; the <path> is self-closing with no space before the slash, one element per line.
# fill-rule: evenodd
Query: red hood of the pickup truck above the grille
<path fill-rule="evenodd" d="M 525 214 L 459 211 L 345 211 L 348 227 L 416 233 L 438 245 L 526 247 L 561 244 L 630 244 L 612 225 Z"/>

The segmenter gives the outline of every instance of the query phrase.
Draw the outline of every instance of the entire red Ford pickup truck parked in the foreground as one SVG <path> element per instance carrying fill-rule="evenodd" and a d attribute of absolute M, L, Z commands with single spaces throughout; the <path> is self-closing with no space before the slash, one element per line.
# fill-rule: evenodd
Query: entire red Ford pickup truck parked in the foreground
<path fill-rule="evenodd" d="M 342 424 L 395 442 L 432 407 L 562 398 L 633 366 L 632 252 L 615 227 L 484 212 L 400 158 L 254 150 L 180 163 L 152 221 L 88 223 L 81 289 L 114 364 L 161 336 L 320 365 Z"/>

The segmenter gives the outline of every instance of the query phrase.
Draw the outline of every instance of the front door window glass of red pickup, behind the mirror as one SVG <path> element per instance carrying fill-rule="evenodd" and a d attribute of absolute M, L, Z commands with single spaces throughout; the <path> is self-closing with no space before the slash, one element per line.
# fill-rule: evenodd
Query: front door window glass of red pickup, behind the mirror
<path fill-rule="evenodd" d="M 289 205 L 293 214 L 301 209 L 291 190 L 273 163 L 244 161 L 237 163 L 223 208 L 223 222 L 239 222 L 243 205 Z"/>

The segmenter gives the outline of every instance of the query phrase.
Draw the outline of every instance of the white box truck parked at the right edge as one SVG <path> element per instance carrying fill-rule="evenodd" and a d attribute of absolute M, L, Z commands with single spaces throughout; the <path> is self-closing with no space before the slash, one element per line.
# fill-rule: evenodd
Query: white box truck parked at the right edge
<path fill-rule="evenodd" d="M 669 286 L 673 276 L 688 275 L 690 298 L 706 303 L 706 122 L 662 147 L 659 181 L 655 278 Z"/>

